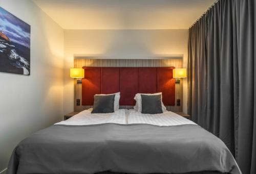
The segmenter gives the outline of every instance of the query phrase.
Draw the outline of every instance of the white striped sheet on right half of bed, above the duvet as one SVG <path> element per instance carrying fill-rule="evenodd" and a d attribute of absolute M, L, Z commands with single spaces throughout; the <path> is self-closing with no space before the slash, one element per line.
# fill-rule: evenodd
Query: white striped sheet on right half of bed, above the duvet
<path fill-rule="evenodd" d="M 145 123 L 157 126 L 197 125 L 195 122 L 170 111 L 162 114 L 142 114 L 135 110 L 129 110 L 127 123 Z"/>

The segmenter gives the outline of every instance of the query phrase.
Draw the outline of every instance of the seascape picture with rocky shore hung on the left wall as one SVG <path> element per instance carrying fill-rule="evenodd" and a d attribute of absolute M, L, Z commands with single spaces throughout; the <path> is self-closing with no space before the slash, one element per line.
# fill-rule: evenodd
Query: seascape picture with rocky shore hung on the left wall
<path fill-rule="evenodd" d="M 0 71 L 30 75 L 30 25 L 1 7 Z"/>

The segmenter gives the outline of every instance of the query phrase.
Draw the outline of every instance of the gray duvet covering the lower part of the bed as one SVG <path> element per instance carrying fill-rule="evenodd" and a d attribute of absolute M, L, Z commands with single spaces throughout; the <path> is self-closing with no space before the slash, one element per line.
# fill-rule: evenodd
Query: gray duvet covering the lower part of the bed
<path fill-rule="evenodd" d="M 14 173 L 241 173 L 226 145 L 197 125 L 54 125 L 20 142 Z M 212 172 L 213 173 L 213 172 Z"/>

